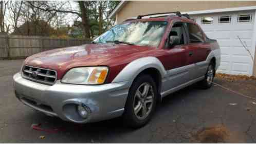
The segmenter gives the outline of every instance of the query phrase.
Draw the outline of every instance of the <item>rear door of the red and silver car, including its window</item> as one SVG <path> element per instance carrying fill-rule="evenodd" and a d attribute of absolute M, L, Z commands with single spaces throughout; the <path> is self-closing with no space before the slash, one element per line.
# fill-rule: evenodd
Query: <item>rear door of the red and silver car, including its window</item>
<path fill-rule="evenodd" d="M 190 58 L 195 64 L 194 70 L 191 72 L 191 80 L 202 77 L 208 67 L 206 58 L 210 53 L 210 47 L 206 45 L 205 39 L 203 37 L 203 31 L 199 26 L 187 23 L 187 30 L 189 33 L 189 44 Z"/>

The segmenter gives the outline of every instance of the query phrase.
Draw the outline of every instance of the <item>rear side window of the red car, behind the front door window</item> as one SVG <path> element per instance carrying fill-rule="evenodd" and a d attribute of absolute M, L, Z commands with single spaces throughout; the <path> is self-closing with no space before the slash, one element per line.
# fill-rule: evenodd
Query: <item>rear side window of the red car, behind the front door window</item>
<path fill-rule="evenodd" d="M 203 33 L 194 24 L 187 23 L 187 28 L 189 31 L 189 43 L 202 43 L 204 42 Z"/>

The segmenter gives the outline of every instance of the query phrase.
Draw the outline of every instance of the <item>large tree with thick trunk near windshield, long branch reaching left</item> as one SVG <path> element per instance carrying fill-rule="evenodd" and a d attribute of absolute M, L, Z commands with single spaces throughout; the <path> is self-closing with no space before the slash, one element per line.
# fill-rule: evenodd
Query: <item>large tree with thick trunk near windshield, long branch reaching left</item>
<path fill-rule="evenodd" d="M 112 19 L 107 19 L 108 14 L 115 8 L 119 1 L 77 1 L 79 10 L 74 10 L 66 7 L 60 7 L 58 3 L 49 4 L 45 3 L 42 6 L 36 6 L 32 2 L 28 2 L 32 7 L 41 9 L 47 12 L 58 13 L 71 13 L 77 15 L 82 19 L 82 26 L 85 34 L 85 38 L 94 37 L 93 26 L 98 26 L 98 34 L 103 33 L 108 29 L 108 26 L 112 26 Z M 61 2 L 59 2 L 61 3 Z M 95 21 L 97 23 L 95 23 Z M 106 23 L 105 23 L 106 22 Z M 104 24 L 106 26 L 104 27 Z"/>

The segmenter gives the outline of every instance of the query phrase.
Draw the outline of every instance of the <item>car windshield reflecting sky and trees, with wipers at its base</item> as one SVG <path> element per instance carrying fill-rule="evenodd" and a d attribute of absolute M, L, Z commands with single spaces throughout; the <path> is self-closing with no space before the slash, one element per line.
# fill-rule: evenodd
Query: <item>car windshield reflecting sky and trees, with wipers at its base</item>
<path fill-rule="evenodd" d="M 93 43 L 116 43 L 157 47 L 168 22 L 130 22 L 117 25 L 97 37 Z"/>

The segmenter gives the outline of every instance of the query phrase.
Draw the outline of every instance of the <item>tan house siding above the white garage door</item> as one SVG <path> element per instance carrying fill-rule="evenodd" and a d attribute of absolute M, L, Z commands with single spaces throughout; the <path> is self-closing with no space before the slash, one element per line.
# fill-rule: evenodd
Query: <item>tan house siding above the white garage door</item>
<path fill-rule="evenodd" d="M 128 17 L 141 14 L 199 11 L 235 7 L 256 6 L 256 1 L 129 1 L 116 14 L 117 24 Z"/>

